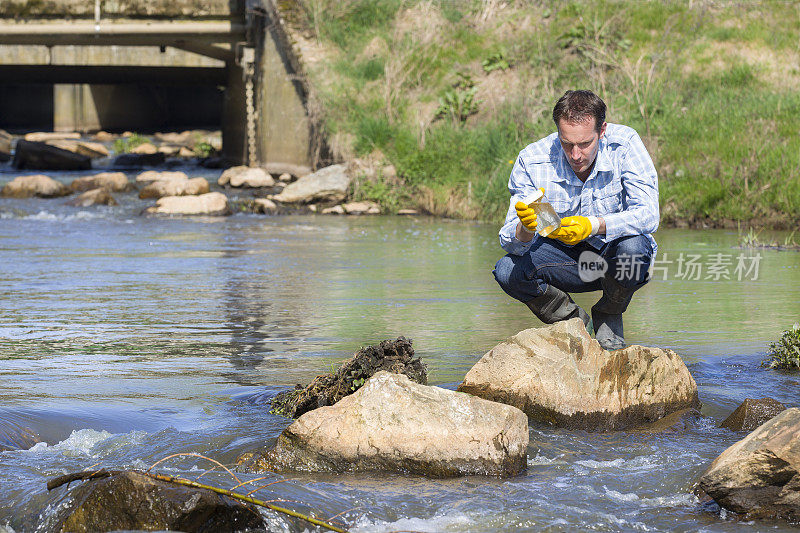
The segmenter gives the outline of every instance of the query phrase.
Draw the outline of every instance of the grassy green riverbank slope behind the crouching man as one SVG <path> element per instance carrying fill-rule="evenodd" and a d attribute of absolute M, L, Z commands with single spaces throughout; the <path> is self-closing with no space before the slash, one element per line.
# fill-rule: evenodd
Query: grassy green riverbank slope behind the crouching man
<path fill-rule="evenodd" d="M 283 6 L 332 160 L 396 169 L 356 179 L 355 199 L 499 222 L 517 153 L 553 131 L 553 103 L 581 87 L 642 136 L 665 226 L 800 223 L 791 3 Z"/>

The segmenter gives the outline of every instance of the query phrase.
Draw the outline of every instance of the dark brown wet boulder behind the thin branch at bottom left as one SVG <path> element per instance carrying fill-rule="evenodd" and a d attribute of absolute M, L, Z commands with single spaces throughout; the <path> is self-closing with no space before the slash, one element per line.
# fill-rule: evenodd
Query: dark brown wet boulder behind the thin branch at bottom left
<path fill-rule="evenodd" d="M 264 531 L 255 506 L 207 489 L 183 487 L 138 472 L 117 472 L 72 490 L 47 529 L 66 531 Z"/>

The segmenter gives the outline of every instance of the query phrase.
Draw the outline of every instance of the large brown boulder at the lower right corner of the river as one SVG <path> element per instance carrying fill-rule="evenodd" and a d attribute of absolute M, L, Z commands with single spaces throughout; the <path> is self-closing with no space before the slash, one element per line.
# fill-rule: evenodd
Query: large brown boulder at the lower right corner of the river
<path fill-rule="evenodd" d="M 722 452 L 697 489 L 746 519 L 800 521 L 800 409 L 786 409 Z"/>

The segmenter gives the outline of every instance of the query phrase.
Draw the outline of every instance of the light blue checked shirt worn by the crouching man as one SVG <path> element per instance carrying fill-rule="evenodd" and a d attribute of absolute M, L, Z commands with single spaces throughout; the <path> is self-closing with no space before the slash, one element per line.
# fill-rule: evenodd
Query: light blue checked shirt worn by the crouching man
<path fill-rule="evenodd" d="M 511 205 L 500 229 L 500 246 L 514 255 L 527 252 L 536 239 L 522 242 L 514 234 L 519 218 L 514 204 L 544 187 L 544 194 L 561 218 L 581 215 L 603 217 L 606 234 L 586 239 L 593 247 L 626 235 L 646 235 L 658 229 L 658 175 L 639 134 L 628 126 L 608 124 L 600 139 L 592 173 L 582 182 L 569 166 L 558 133 L 526 146 L 511 169 L 508 190 Z"/>

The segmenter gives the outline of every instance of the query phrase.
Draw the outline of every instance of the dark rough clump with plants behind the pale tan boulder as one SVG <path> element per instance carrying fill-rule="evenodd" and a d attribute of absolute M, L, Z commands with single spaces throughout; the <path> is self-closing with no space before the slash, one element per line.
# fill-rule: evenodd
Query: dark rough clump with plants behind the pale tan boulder
<path fill-rule="evenodd" d="M 339 370 L 317 376 L 305 388 L 298 385 L 294 390 L 279 393 L 272 400 L 270 412 L 297 418 L 318 407 L 333 405 L 381 370 L 404 374 L 422 385 L 428 383 L 428 369 L 419 358 L 414 358 L 411 341 L 398 337 L 396 341 L 385 340 L 360 349 Z"/>

